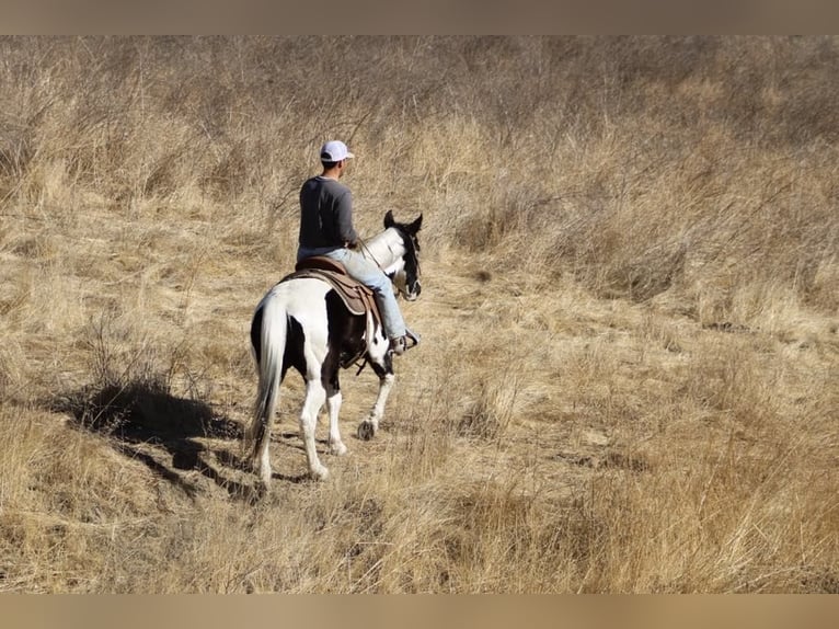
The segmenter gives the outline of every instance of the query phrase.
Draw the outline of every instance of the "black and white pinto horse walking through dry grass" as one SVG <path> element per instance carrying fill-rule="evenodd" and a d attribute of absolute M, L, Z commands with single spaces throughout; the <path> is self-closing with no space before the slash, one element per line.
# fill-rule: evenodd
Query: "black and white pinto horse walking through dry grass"
<path fill-rule="evenodd" d="M 416 300 L 422 290 L 417 240 L 422 222 L 422 214 L 411 224 L 396 222 L 389 210 L 384 215 L 384 231 L 361 245 L 363 255 L 379 265 L 398 294 L 407 301 Z M 360 316 L 353 313 L 325 279 L 291 275 L 268 290 L 256 306 L 251 320 L 251 345 L 258 388 L 245 447 L 250 446 L 250 465 L 258 476 L 261 489 L 267 490 L 271 483 L 268 442 L 279 387 L 289 367 L 294 367 L 306 382 L 299 424 L 309 476 L 325 480 L 329 469 L 318 458 L 314 428 L 325 401 L 330 418 L 330 453 L 347 454 L 338 431 L 342 402 L 338 373 L 355 358 L 364 357 L 361 367 L 369 364 L 379 377 L 376 402 L 358 425 L 358 437 L 371 439 L 384 414 L 395 376 L 390 342 L 379 319 L 369 311 Z"/>

